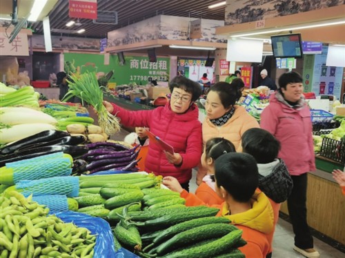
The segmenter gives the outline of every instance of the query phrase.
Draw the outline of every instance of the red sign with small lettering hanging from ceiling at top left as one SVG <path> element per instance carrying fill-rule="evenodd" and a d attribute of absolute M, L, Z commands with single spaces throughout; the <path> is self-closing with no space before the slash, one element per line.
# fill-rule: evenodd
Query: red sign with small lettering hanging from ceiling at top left
<path fill-rule="evenodd" d="M 70 0 L 71 18 L 97 19 L 97 0 Z"/>

